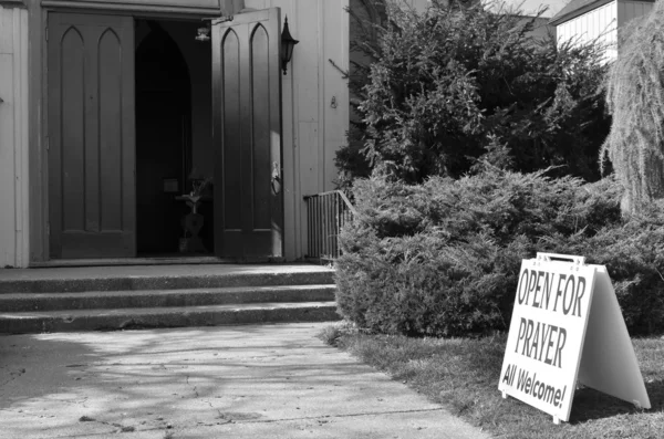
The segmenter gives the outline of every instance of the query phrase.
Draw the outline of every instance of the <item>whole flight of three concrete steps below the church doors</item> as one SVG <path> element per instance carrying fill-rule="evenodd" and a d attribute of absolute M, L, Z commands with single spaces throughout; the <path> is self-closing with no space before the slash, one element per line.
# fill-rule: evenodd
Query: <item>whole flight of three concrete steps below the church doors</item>
<path fill-rule="evenodd" d="M 339 320 L 334 270 L 310 264 L 0 271 L 0 333 Z"/>

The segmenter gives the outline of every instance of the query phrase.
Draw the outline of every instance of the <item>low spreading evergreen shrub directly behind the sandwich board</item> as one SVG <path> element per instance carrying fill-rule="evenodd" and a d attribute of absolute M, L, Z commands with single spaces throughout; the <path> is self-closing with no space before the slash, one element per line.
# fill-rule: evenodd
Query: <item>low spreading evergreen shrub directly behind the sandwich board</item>
<path fill-rule="evenodd" d="M 356 180 L 336 262 L 342 315 L 383 333 L 506 330 L 521 260 L 548 251 L 608 265 L 631 332 L 662 331 L 664 209 L 622 219 L 614 179 L 544 174 Z"/>

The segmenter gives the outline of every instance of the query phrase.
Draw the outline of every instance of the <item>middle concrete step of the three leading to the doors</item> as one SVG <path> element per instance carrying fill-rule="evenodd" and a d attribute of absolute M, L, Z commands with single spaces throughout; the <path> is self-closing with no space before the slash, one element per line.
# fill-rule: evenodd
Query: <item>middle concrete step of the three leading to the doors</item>
<path fill-rule="evenodd" d="M 334 301 L 335 286 L 277 285 L 221 289 L 0 294 L 2 312 L 203 306 L 260 302 Z"/>

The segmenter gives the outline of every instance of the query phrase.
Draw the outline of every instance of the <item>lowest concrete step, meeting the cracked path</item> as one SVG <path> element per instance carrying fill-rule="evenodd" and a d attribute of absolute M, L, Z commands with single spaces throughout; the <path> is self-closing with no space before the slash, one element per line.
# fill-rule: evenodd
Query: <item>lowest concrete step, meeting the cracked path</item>
<path fill-rule="evenodd" d="M 25 334 L 248 323 L 326 322 L 339 318 L 335 302 L 269 302 L 153 309 L 2 312 L 0 313 L 0 333 Z"/>

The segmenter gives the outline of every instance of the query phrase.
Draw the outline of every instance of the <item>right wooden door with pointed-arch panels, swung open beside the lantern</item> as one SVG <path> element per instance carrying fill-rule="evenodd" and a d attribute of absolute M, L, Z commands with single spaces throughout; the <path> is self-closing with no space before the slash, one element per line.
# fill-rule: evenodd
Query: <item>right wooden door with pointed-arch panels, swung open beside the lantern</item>
<path fill-rule="evenodd" d="M 281 17 L 239 13 L 212 28 L 215 252 L 281 258 Z"/>

